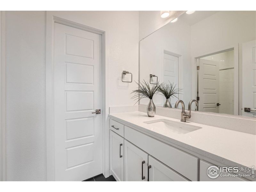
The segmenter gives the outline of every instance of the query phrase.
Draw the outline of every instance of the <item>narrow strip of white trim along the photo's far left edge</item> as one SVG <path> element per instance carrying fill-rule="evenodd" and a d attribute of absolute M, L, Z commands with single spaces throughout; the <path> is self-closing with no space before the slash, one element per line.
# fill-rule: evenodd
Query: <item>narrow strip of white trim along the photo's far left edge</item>
<path fill-rule="evenodd" d="M 6 20 L 0 11 L 0 181 L 6 180 Z"/>

